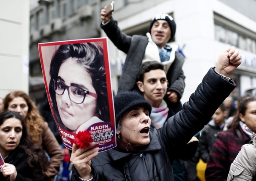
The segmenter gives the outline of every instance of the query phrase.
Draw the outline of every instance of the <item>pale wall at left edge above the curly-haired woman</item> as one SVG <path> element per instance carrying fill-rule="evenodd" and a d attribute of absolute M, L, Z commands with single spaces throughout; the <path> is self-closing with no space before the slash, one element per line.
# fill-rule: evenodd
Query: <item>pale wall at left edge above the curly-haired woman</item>
<path fill-rule="evenodd" d="M 29 0 L 0 1 L 0 97 L 29 89 Z"/>

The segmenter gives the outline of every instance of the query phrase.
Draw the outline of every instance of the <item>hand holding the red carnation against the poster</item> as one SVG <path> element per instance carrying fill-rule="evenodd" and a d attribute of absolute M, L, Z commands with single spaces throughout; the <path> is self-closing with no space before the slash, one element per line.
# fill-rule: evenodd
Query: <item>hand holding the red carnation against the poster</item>
<path fill-rule="evenodd" d="M 91 142 L 87 148 L 77 148 L 73 144 L 70 162 L 77 169 L 79 177 L 83 179 L 91 179 L 91 159 L 99 154 L 99 147 L 90 149 L 95 146 L 95 142 Z"/>

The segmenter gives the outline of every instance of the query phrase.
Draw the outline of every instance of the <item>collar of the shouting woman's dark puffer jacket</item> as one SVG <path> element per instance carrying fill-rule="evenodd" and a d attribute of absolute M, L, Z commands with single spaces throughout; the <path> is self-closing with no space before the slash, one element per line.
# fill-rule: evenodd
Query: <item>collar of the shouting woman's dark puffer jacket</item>
<path fill-rule="evenodd" d="M 141 149 L 139 149 L 138 153 L 153 152 L 153 151 L 157 151 L 157 150 L 160 150 L 160 149 L 161 149 L 161 145 L 160 145 L 160 142 L 157 138 L 156 133 L 154 131 L 150 130 L 150 143 L 149 143 L 149 145 L 144 146 Z M 113 148 L 113 149 L 110 149 L 108 151 L 108 153 L 110 154 L 111 158 L 115 161 L 134 154 L 134 153 L 121 152 L 120 149 L 118 149 L 117 147 Z"/>

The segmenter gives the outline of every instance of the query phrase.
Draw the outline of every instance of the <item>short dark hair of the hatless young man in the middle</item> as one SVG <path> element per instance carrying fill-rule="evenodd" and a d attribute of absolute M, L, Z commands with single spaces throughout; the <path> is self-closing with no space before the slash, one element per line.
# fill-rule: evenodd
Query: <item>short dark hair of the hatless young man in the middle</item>
<path fill-rule="evenodd" d="M 157 70 L 157 69 L 165 71 L 164 65 L 161 64 L 160 62 L 157 62 L 157 61 L 144 62 L 139 68 L 137 81 L 143 82 L 145 73 L 152 71 L 152 70 Z"/>

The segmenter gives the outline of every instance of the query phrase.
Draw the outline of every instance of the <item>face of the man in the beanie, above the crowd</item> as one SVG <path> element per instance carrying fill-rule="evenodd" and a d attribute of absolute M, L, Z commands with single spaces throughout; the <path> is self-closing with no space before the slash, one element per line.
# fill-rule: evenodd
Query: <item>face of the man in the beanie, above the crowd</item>
<path fill-rule="evenodd" d="M 157 20 L 151 28 L 151 36 L 154 42 L 162 48 L 171 38 L 171 28 L 167 21 Z"/>

